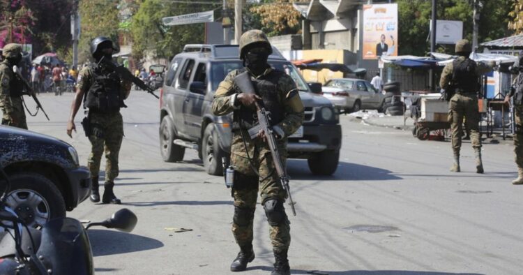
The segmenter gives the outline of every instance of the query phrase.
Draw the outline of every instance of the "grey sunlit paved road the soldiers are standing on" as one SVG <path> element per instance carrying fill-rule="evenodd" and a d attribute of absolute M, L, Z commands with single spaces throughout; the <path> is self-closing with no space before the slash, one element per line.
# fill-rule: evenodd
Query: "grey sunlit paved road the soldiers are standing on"
<path fill-rule="evenodd" d="M 86 163 L 83 131 L 73 139 L 66 135 L 73 96 L 40 98 L 52 121 L 30 118 L 29 128 L 70 142 Z M 115 188 L 123 205 L 87 201 L 68 213 L 98 221 L 128 207 L 139 218 L 131 234 L 89 230 L 96 272 L 229 274 L 238 248 L 222 178 L 204 172 L 196 151 L 187 151 L 183 163 L 163 163 L 158 101 L 133 91 L 127 105 Z M 81 119 L 78 114 L 78 127 Z M 474 172 L 473 150 L 465 143 L 463 172 L 453 174 L 449 142 L 422 142 L 348 117 L 341 124 L 333 177 L 313 177 L 306 161 L 288 162 L 298 214 L 290 217 L 292 274 L 521 274 L 523 187 L 510 184 L 516 176 L 510 143 L 485 144 L 485 174 Z M 269 274 L 273 255 L 261 206 L 254 246 L 256 259 L 243 274 Z"/>

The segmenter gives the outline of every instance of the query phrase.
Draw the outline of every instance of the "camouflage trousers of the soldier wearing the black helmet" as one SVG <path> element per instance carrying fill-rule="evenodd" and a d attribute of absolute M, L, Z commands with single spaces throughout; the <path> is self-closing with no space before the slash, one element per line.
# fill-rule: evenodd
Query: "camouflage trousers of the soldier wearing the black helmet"
<path fill-rule="evenodd" d="M 123 140 L 123 119 L 120 112 L 91 113 L 91 154 L 87 168 L 92 177 L 98 177 L 100 160 L 105 151 L 105 181 L 114 181 L 119 174 L 118 155 Z"/>

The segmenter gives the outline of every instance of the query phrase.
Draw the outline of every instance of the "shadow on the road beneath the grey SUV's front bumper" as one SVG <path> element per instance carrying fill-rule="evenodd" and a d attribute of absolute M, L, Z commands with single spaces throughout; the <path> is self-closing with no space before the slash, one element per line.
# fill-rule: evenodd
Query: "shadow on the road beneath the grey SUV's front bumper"
<path fill-rule="evenodd" d="M 338 169 L 331 176 L 316 176 L 309 170 L 306 160 L 291 159 L 287 161 L 287 172 L 291 179 L 303 180 L 358 180 L 358 181 L 386 181 L 402 179 L 397 177 L 393 172 L 372 166 L 361 165 L 356 163 L 345 163 L 340 161 Z"/>

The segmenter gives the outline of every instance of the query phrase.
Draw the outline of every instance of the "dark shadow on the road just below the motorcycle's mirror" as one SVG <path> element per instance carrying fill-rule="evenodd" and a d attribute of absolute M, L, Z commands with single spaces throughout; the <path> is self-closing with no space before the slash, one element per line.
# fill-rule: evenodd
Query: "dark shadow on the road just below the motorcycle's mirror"
<path fill-rule="evenodd" d="M 113 230 L 87 230 L 93 256 L 123 254 L 160 248 L 161 241 Z"/>

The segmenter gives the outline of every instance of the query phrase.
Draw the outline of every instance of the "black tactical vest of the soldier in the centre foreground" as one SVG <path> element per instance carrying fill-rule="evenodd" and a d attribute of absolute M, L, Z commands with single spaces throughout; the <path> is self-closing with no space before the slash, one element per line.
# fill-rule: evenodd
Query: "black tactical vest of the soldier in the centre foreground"
<path fill-rule="evenodd" d="M 242 73 L 242 70 L 240 70 Z M 264 75 L 263 79 L 256 79 L 250 77 L 252 86 L 255 87 L 256 94 L 261 97 L 264 102 L 265 110 L 270 114 L 271 121 L 269 123 L 274 126 L 284 118 L 284 107 L 280 103 L 280 95 L 278 92 L 278 80 L 285 73 L 280 70 L 271 70 L 271 73 Z M 238 87 L 235 87 L 236 93 L 241 93 Z M 248 107 L 241 105 L 240 109 L 234 110 L 232 129 L 249 129 L 258 123 L 258 117 L 256 110 L 252 110 Z"/>

